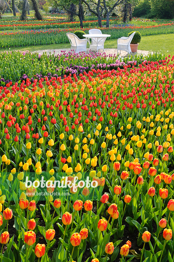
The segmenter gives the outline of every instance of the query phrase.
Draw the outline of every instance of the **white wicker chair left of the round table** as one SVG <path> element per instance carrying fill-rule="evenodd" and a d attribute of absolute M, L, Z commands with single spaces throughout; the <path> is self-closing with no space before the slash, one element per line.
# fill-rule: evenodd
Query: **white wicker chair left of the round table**
<path fill-rule="evenodd" d="M 69 42 L 71 44 L 71 49 L 74 49 L 75 53 L 83 52 L 86 53 L 86 45 L 87 40 L 86 39 L 79 39 L 77 35 L 74 35 L 72 33 L 66 33 L 68 36 Z"/>

